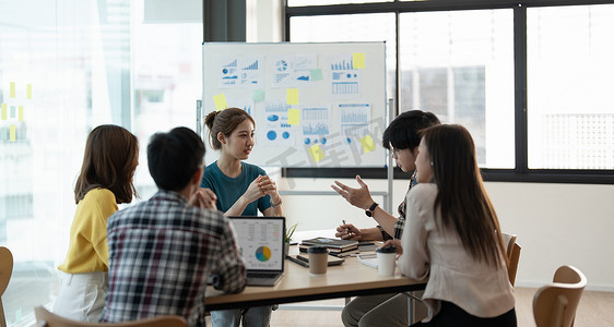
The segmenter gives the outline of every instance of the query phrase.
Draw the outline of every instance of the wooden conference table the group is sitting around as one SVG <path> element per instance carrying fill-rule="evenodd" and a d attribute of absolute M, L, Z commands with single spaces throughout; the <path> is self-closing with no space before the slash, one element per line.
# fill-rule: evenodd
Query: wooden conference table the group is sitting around
<path fill-rule="evenodd" d="M 298 247 L 291 246 L 290 254 Z M 322 276 L 310 276 L 309 268 L 288 259 L 284 262 L 284 276 L 274 287 L 246 287 L 241 293 L 224 294 L 208 287 L 208 311 L 239 308 L 259 305 L 327 300 L 357 295 L 374 295 L 424 290 L 426 280 L 401 276 L 382 277 L 377 268 L 361 264 L 356 257 L 347 257 L 340 266 L 328 267 Z"/>

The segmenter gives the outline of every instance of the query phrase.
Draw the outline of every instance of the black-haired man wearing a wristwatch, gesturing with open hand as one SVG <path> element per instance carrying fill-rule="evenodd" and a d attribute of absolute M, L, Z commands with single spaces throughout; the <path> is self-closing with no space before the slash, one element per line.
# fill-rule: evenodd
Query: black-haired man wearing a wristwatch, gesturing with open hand
<path fill-rule="evenodd" d="M 415 158 L 420 145 L 420 131 L 438 125 L 439 119 L 432 112 L 410 110 L 399 114 L 382 135 L 382 146 L 392 152 L 392 158 L 403 172 L 411 173 L 408 193 L 417 184 Z M 350 187 L 334 181 L 331 187 L 350 204 L 365 210 L 378 226 L 374 228 L 356 228 L 345 223 L 336 228 L 335 235 L 346 240 L 386 241 L 400 240 L 405 226 L 406 205 L 403 201 L 398 208 L 399 218 L 383 210 L 373 199 L 369 187 L 359 175 L 356 175 L 359 187 Z M 381 294 L 357 296 L 343 307 L 341 320 L 345 326 L 408 326 L 408 298 L 403 294 Z M 425 307 L 418 307 L 417 315 L 425 315 Z"/>

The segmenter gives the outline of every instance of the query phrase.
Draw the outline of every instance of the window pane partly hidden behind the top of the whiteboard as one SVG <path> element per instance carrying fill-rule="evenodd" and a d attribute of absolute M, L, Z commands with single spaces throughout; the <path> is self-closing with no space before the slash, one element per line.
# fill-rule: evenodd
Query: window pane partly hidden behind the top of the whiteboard
<path fill-rule="evenodd" d="M 386 41 L 387 96 L 395 99 L 395 20 L 392 13 L 296 16 L 290 20 L 294 43 Z"/>

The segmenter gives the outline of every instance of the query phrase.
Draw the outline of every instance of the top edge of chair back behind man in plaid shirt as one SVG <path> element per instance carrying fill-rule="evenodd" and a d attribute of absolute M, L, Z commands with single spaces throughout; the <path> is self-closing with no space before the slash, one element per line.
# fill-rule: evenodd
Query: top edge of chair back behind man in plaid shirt
<path fill-rule="evenodd" d="M 36 327 L 188 327 L 180 316 L 166 315 L 127 323 L 85 323 L 67 319 L 50 313 L 43 306 L 34 308 Z"/>

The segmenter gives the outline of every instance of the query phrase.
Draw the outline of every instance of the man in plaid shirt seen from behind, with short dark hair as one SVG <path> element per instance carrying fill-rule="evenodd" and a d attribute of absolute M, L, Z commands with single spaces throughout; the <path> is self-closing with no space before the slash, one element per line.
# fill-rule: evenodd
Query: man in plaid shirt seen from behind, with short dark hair
<path fill-rule="evenodd" d="M 147 160 L 158 192 L 108 219 L 109 289 L 101 322 L 179 315 L 204 326 L 210 275 L 228 293 L 246 286 L 234 229 L 200 189 L 204 145 L 189 129 L 152 136 Z"/>

